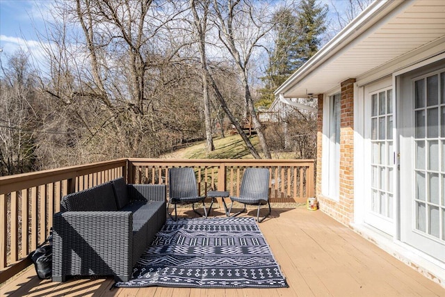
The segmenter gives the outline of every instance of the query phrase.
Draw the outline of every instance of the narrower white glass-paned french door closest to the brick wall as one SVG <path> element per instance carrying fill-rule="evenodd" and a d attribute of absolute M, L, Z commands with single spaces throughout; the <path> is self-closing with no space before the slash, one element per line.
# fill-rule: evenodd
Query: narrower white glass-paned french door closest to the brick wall
<path fill-rule="evenodd" d="M 389 85 L 389 86 L 388 86 Z M 383 87 L 382 87 L 383 86 Z M 394 235 L 394 96 L 391 81 L 366 86 L 364 220 Z"/>

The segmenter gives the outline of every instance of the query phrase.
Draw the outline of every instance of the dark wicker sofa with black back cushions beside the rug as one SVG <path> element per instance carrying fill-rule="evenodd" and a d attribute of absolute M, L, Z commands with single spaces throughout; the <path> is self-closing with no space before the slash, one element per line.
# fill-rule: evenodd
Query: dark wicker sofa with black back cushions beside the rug
<path fill-rule="evenodd" d="M 127 281 L 133 265 L 165 223 L 165 185 L 115 179 L 63 197 L 53 220 L 52 280 L 113 275 Z"/>

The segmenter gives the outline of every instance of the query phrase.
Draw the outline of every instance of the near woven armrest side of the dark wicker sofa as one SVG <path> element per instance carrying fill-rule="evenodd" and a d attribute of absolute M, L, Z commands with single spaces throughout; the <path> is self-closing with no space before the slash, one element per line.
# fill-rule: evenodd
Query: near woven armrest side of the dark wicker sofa
<path fill-rule="evenodd" d="M 53 280 L 65 275 L 129 275 L 131 211 L 64 211 L 53 220 Z"/>

